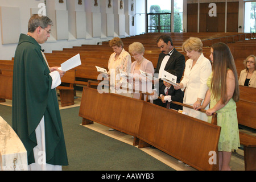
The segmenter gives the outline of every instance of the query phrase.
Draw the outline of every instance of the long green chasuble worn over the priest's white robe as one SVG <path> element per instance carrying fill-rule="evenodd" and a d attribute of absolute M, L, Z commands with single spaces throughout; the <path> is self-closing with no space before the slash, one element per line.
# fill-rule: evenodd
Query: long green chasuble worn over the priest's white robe
<path fill-rule="evenodd" d="M 44 116 L 46 163 L 67 166 L 67 151 L 56 89 L 41 52 L 31 36 L 20 34 L 13 72 L 13 129 L 27 150 L 28 164 L 35 163 L 35 129 Z"/>

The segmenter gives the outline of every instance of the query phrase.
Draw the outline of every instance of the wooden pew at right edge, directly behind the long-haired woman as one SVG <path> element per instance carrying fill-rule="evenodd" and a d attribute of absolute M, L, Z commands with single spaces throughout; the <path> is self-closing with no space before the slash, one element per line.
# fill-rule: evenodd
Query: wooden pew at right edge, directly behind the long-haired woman
<path fill-rule="evenodd" d="M 240 87 L 240 101 L 237 102 L 238 123 L 256 129 L 256 88 Z M 240 131 L 240 143 L 243 145 L 245 170 L 256 170 L 256 137 Z"/>

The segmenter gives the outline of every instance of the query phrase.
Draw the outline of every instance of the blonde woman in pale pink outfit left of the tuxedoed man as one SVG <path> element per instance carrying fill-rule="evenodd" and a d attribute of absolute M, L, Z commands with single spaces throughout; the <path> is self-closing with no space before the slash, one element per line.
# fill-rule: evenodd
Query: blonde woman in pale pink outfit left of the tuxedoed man
<path fill-rule="evenodd" d="M 134 42 L 129 46 L 129 52 L 135 60 L 131 64 L 131 74 L 133 75 L 133 89 L 135 90 L 133 98 L 137 99 L 141 96 L 139 91 L 142 91 L 143 93 L 152 92 L 152 82 L 147 80 L 147 77 L 141 75 L 142 71 L 151 74 L 152 77 L 154 76 L 154 66 L 151 61 L 143 56 L 144 50 L 143 44 L 139 42 Z M 145 95 L 144 100 L 146 100 Z"/>

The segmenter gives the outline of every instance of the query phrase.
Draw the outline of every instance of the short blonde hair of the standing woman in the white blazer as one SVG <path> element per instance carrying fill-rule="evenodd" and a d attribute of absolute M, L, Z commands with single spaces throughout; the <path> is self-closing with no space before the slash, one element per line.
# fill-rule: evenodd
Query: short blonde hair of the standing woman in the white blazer
<path fill-rule="evenodd" d="M 191 37 L 182 44 L 182 51 L 197 51 L 202 52 L 203 51 L 203 43 L 201 42 L 201 39 Z"/>

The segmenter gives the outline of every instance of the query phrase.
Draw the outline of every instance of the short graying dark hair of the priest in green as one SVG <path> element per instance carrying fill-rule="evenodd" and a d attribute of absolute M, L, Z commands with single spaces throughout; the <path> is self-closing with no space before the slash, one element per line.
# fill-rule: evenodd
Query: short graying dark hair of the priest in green
<path fill-rule="evenodd" d="M 49 25 L 53 26 L 52 20 L 47 16 L 34 14 L 28 21 L 28 32 L 34 32 L 37 27 L 46 28 Z"/>

